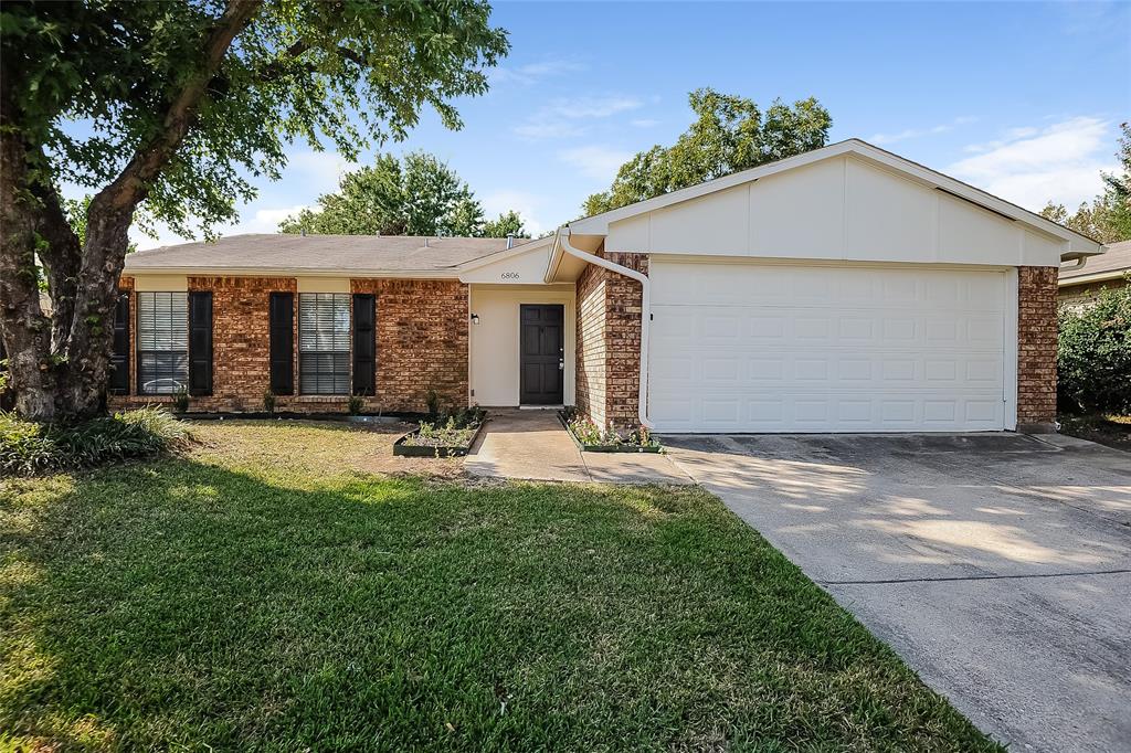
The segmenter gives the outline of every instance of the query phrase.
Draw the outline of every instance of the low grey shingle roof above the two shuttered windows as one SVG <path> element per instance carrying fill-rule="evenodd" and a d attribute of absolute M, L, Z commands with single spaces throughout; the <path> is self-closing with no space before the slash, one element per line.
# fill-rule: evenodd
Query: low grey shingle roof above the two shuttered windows
<path fill-rule="evenodd" d="M 526 243 L 530 241 L 516 239 L 513 248 Z M 126 256 L 124 271 L 447 276 L 460 265 L 502 251 L 507 251 L 504 237 L 262 233 L 135 251 Z"/>

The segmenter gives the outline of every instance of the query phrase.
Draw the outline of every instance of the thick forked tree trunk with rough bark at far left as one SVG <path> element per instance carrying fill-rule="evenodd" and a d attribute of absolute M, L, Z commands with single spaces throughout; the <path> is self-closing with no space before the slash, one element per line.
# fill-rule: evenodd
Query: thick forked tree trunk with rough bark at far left
<path fill-rule="evenodd" d="M 260 5 L 228 0 L 201 40 L 200 67 L 170 92 L 163 127 L 90 201 L 81 249 L 48 159 L 21 136 L 14 87 L 0 77 L 0 338 L 23 417 L 74 422 L 104 409 L 118 280 L 133 213 L 184 140 L 208 83 Z M 36 257 L 46 270 L 51 319 L 40 305 Z"/>

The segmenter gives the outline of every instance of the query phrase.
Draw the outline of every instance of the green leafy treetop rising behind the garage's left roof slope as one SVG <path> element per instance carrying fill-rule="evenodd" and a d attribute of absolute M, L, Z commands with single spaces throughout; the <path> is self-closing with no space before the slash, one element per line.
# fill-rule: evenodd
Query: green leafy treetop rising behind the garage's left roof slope
<path fill-rule="evenodd" d="M 586 199 L 586 215 L 644 201 L 688 185 L 824 146 L 832 118 L 810 97 L 775 99 L 762 113 L 745 97 L 696 89 L 698 118 L 670 147 L 654 146 L 621 165 L 612 187 Z"/>

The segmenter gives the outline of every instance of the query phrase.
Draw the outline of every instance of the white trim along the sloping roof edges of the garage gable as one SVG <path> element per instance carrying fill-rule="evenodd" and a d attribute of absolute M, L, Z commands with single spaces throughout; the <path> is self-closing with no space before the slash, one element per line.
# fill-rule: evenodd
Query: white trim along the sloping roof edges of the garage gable
<path fill-rule="evenodd" d="M 793 170 L 846 154 L 853 154 L 873 163 L 887 166 L 888 168 L 895 170 L 912 180 L 938 188 L 942 191 L 957 196 L 958 198 L 966 199 L 967 201 L 976 204 L 984 209 L 1002 215 L 1008 219 L 1024 223 L 1025 225 L 1038 230 L 1047 235 L 1069 241 L 1072 246 L 1071 252 L 1074 256 L 1103 253 L 1103 246 L 1099 242 L 1088 237 L 1087 235 L 1077 233 L 1069 227 L 1046 219 L 1041 215 L 1031 213 L 1028 209 L 1024 209 L 1015 204 L 1010 204 L 1009 201 L 987 193 L 982 189 L 962 183 L 961 181 L 950 178 L 949 175 L 943 175 L 942 173 L 933 171 L 930 167 L 920 165 L 918 163 L 900 157 L 897 154 L 881 149 L 877 146 L 867 144 L 866 141 L 862 141 L 861 139 L 838 141 L 837 144 L 830 144 L 829 146 L 821 147 L 820 149 L 813 149 L 812 152 L 805 152 L 804 154 L 778 159 L 765 165 L 759 165 L 758 167 L 751 167 L 750 170 L 732 173 L 731 175 L 716 178 L 715 180 L 706 181 L 697 185 L 690 185 L 677 191 L 672 191 L 671 193 L 665 193 L 654 199 L 638 201 L 637 204 L 620 207 L 619 209 L 612 209 L 599 215 L 576 219 L 569 223 L 569 228 L 571 233 L 579 235 L 605 235 L 608 232 L 610 223 L 655 211 L 656 209 L 662 209 L 673 204 L 696 199 L 708 193 L 723 191 L 743 183 L 750 183 L 759 180 L 760 178 L 767 178 L 787 170 Z"/>

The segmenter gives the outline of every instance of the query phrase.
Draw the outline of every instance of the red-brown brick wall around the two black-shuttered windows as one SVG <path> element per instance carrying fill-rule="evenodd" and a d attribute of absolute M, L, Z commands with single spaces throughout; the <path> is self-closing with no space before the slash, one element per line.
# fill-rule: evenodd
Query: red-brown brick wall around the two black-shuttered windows
<path fill-rule="evenodd" d="M 417 413 L 430 389 L 441 405 L 467 405 L 467 286 L 455 280 L 355 279 L 353 293 L 377 295 L 377 395 L 366 412 Z M 137 395 L 137 301 L 130 292 L 130 395 L 110 398 L 113 408 L 170 403 L 170 396 Z M 191 397 L 190 412 L 258 413 L 270 387 L 270 294 L 296 293 L 293 277 L 189 277 L 188 288 L 213 293 L 213 393 Z M 277 412 L 339 413 L 346 396 L 303 396 L 299 384 L 299 300 L 295 295 L 294 384 L 278 396 Z"/>

